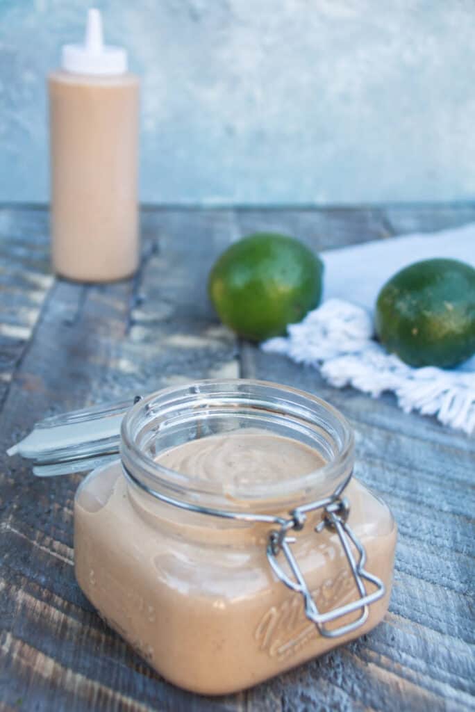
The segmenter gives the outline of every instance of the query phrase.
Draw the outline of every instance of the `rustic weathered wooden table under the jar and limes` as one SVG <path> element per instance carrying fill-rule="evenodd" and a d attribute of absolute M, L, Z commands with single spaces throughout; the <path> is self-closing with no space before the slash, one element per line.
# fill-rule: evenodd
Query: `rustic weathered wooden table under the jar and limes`
<path fill-rule="evenodd" d="M 136 278 L 81 286 L 50 273 L 45 210 L 0 209 L 2 711 L 475 709 L 474 439 L 237 341 L 206 299 L 213 259 L 250 231 L 322 249 L 472 220 L 475 205 L 144 209 Z M 255 689 L 211 699 L 151 671 L 80 592 L 72 519 L 81 476 L 33 478 L 4 451 L 46 414 L 218 376 L 292 384 L 341 409 L 356 429 L 357 474 L 388 501 L 400 534 L 380 626 Z"/>

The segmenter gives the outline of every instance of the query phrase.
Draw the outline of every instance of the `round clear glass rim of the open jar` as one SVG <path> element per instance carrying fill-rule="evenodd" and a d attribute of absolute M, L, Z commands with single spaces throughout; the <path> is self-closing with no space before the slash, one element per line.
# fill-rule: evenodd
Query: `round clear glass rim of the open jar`
<path fill-rule="evenodd" d="M 277 397 L 278 394 L 286 397 L 287 408 L 291 407 L 292 404 L 296 405 L 300 401 L 300 404 L 304 403 L 306 405 L 309 413 L 312 409 L 315 412 L 319 410 L 320 417 L 321 413 L 324 413 L 329 422 L 331 421 L 333 426 L 338 427 L 341 441 L 338 445 L 336 456 L 332 457 L 323 466 L 292 478 L 290 478 L 291 473 L 289 473 L 289 478 L 283 478 L 282 481 L 273 483 L 272 503 L 274 508 L 276 501 L 279 501 L 279 504 L 284 507 L 287 504 L 294 503 L 296 499 L 301 499 L 304 493 L 309 498 L 314 497 L 316 493 L 319 495 L 326 493 L 325 486 L 329 491 L 333 491 L 338 484 L 348 477 L 348 473 L 351 472 L 353 467 L 354 436 L 346 418 L 338 409 L 314 394 L 284 384 L 258 379 L 200 379 L 188 384 L 174 385 L 161 389 L 139 400 L 129 409 L 121 425 L 120 454 L 125 471 L 132 470 L 134 476 L 139 481 L 146 483 L 152 490 L 171 491 L 175 495 L 179 493 L 183 501 L 196 501 L 196 498 L 202 501 L 204 498 L 215 504 L 215 498 L 218 498 L 220 506 L 225 509 L 235 510 L 236 508 L 248 509 L 251 507 L 256 511 L 262 510 L 265 502 L 269 502 L 268 484 L 262 485 L 260 483 L 249 486 L 249 483 L 246 483 L 245 501 L 235 501 L 234 499 L 230 501 L 229 498 L 226 501 L 223 499 L 225 491 L 223 491 L 222 484 L 186 475 L 159 464 L 139 446 L 137 434 L 134 433 L 134 429 L 136 429 L 140 420 L 159 401 L 173 403 L 174 397 L 179 400 L 180 397 L 183 399 L 184 396 L 188 396 L 192 401 L 195 396 L 199 399 L 205 395 L 211 395 L 217 399 L 227 395 L 232 399 L 233 394 L 235 394 L 236 402 L 245 402 L 246 396 L 250 396 L 252 392 L 258 394 L 260 389 L 268 389 L 274 397 Z M 169 400 L 167 401 L 167 399 Z M 159 414 L 159 409 L 157 414 Z M 260 503 L 261 507 L 259 506 Z"/>

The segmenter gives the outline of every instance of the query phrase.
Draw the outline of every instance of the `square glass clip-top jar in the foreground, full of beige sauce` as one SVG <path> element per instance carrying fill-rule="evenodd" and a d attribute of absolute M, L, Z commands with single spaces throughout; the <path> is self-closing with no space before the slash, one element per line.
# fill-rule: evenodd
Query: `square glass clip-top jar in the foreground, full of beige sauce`
<path fill-rule="evenodd" d="M 269 486 L 253 472 L 210 481 L 157 462 L 250 431 L 298 441 L 324 465 L 289 468 Z M 151 666 L 191 691 L 230 693 L 321 655 L 378 624 L 390 597 L 396 525 L 351 477 L 353 458 L 342 415 L 289 387 L 241 379 L 151 394 L 127 409 L 120 459 L 78 488 L 78 583 Z"/>

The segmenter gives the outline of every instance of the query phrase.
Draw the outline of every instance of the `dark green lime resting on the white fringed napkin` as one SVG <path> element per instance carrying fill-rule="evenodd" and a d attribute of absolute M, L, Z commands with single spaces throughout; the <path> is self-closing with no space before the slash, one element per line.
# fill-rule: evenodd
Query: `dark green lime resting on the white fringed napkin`
<path fill-rule="evenodd" d="M 475 269 L 449 259 L 402 269 L 380 290 L 375 327 L 411 366 L 461 363 L 475 352 Z"/>

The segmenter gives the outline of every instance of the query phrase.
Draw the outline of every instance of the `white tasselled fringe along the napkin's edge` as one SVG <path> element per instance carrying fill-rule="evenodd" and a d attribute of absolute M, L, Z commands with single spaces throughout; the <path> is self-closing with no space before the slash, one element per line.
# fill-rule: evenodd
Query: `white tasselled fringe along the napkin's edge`
<path fill-rule="evenodd" d="M 349 384 L 373 397 L 392 391 L 405 412 L 434 415 L 444 425 L 474 431 L 475 373 L 407 366 L 373 340 L 372 320 L 361 307 L 329 299 L 287 331 L 287 337 L 263 342 L 262 350 L 314 366 L 338 388 Z"/>

